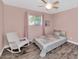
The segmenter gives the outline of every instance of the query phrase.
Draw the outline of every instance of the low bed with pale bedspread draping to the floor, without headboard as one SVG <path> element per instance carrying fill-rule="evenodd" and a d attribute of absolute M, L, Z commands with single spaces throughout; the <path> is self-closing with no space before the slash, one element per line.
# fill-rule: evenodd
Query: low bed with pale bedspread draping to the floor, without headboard
<path fill-rule="evenodd" d="M 64 44 L 67 42 L 66 36 L 43 36 L 39 38 L 34 39 L 34 43 L 40 48 L 40 56 L 44 57 L 46 53 L 51 51 L 52 49 L 55 49 L 56 47 Z"/>

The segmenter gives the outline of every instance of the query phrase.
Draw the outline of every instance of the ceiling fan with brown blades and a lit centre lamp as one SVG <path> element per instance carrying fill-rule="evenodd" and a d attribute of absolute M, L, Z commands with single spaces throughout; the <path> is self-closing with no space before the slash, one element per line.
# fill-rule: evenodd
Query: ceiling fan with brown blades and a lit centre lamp
<path fill-rule="evenodd" d="M 54 2 L 49 2 L 49 0 L 41 0 L 45 5 L 44 6 L 39 6 L 39 7 L 45 7 L 47 10 L 48 9 L 58 9 L 59 8 L 59 1 L 54 1 Z"/>

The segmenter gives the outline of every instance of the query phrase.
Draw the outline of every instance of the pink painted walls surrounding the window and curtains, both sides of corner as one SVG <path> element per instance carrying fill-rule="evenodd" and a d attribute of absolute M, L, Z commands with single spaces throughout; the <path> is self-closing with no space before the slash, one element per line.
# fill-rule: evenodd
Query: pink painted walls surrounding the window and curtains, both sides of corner
<path fill-rule="evenodd" d="M 54 28 L 61 29 L 68 33 L 68 37 L 72 38 L 70 40 L 77 42 L 77 8 L 74 8 L 69 11 L 49 15 L 42 12 L 5 5 L 4 34 L 7 32 L 17 32 L 20 37 L 23 37 L 25 12 L 27 12 L 27 14 L 32 14 L 32 15 L 44 15 L 44 20 L 48 20 L 50 23 L 49 26 L 45 27 L 46 34 L 51 33 Z M 37 31 L 39 32 L 38 33 L 35 32 L 36 30 L 34 30 L 34 28 L 36 28 Z M 41 29 L 41 27 L 40 28 L 31 27 L 31 30 L 29 30 L 31 36 L 33 34 L 34 36 L 40 36 L 42 34 L 42 30 L 39 29 Z"/>

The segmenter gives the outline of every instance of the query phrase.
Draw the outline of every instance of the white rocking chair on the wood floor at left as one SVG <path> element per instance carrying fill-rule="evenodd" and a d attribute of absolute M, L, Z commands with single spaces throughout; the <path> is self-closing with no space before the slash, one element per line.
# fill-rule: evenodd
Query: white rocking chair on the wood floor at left
<path fill-rule="evenodd" d="M 29 41 L 27 38 L 19 38 L 16 32 L 10 32 L 6 34 L 7 36 L 7 40 L 9 43 L 9 47 L 10 49 L 7 49 L 8 51 L 10 51 L 11 53 L 19 53 L 21 52 L 21 47 L 23 47 L 24 45 L 28 44 L 29 45 Z M 14 51 L 18 49 L 18 51 Z"/>

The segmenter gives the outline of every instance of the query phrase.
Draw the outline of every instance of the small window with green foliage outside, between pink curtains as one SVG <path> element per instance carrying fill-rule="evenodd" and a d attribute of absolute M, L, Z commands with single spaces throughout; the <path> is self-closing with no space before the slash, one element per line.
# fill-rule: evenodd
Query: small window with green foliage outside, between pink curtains
<path fill-rule="evenodd" d="M 34 26 L 40 26 L 42 25 L 42 17 L 41 16 L 33 16 L 33 15 L 29 15 L 28 16 L 29 20 L 29 25 L 34 25 Z"/>

